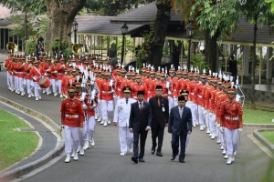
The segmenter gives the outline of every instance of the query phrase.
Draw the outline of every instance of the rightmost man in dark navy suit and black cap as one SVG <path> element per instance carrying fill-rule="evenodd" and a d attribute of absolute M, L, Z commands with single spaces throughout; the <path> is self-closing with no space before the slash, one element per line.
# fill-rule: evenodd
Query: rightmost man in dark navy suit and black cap
<path fill-rule="evenodd" d="M 178 106 L 174 106 L 170 111 L 168 121 L 168 133 L 172 133 L 172 148 L 174 160 L 179 153 L 179 141 L 181 153 L 179 162 L 184 163 L 185 141 L 187 134 L 192 132 L 192 114 L 189 107 L 185 106 L 184 96 L 178 97 Z"/>

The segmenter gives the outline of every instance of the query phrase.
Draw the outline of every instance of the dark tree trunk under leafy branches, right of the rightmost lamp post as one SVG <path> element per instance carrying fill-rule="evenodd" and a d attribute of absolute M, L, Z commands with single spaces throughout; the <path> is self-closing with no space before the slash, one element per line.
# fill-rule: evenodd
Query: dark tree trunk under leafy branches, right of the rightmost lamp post
<path fill-rule="evenodd" d="M 219 35 L 217 31 L 215 35 L 210 36 L 210 31 L 205 30 L 205 63 L 209 65 L 213 72 L 218 72 L 216 67 L 216 62 L 218 61 L 218 57 L 216 57 L 216 41 Z"/>

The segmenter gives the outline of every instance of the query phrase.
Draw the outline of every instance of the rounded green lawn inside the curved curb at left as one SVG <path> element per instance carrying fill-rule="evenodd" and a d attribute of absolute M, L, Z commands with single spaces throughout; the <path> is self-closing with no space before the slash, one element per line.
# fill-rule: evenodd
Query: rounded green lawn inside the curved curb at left
<path fill-rule="evenodd" d="M 0 109 L 0 170 L 28 157 L 37 147 L 38 136 L 33 132 L 15 131 L 29 127 L 22 119 Z"/>

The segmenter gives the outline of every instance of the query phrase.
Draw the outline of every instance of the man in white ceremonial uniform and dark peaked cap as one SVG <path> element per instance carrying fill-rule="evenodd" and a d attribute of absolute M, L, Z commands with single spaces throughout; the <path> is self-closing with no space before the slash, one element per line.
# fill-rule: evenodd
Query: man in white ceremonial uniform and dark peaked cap
<path fill-rule="evenodd" d="M 136 102 L 135 99 L 130 98 L 132 93 L 132 88 L 130 86 L 124 86 L 122 92 L 123 98 L 117 101 L 113 117 L 114 126 L 119 127 L 121 157 L 125 156 L 127 152 L 132 153 L 133 134 L 129 129 L 129 120 L 132 103 Z"/>

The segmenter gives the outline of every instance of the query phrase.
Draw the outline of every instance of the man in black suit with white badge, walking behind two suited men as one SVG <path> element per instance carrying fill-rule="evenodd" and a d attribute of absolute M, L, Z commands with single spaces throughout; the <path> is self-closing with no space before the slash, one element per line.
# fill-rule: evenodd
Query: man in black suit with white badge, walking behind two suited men
<path fill-rule="evenodd" d="M 164 98 L 163 95 L 163 86 L 155 87 L 155 95 L 153 96 L 149 103 L 152 106 L 153 120 L 152 120 L 152 138 L 153 138 L 153 147 L 152 154 L 155 153 L 155 147 L 157 146 L 156 139 L 158 137 L 158 147 L 156 155 L 158 157 L 163 157 L 162 154 L 162 145 L 163 145 L 163 131 L 164 126 L 168 123 L 169 117 L 169 107 L 168 100 Z"/>

